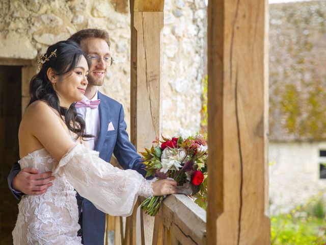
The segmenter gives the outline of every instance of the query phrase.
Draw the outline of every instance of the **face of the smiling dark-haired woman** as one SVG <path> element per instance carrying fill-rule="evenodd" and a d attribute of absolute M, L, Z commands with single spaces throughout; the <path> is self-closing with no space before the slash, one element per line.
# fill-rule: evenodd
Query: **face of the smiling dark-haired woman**
<path fill-rule="evenodd" d="M 66 75 L 60 77 L 54 85 L 59 96 L 60 106 L 69 108 L 71 103 L 83 99 L 87 87 L 88 65 L 84 56 L 80 58 L 77 66 Z"/>

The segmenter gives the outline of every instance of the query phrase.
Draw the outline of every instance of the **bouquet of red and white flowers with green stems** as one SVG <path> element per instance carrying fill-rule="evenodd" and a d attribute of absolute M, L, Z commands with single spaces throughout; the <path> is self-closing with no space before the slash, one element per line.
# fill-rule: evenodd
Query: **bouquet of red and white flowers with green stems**
<path fill-rule="evenodd" d="M 196 198 L 197 204 L 203 204 L 203 195 L 207 194 L 207 144 L 202 135 L 190 135 L 180 130 L 179 136 L 156 138 L 151 149 L 145 149 L 144 164 L 148 176 L 157 179 L 174 179 L 179 193 Z M 147 198 L 141 205 L 145 213 L 155 216 L 164 197 Z M 200 205 L 202 206 L 202 205 Z"/>

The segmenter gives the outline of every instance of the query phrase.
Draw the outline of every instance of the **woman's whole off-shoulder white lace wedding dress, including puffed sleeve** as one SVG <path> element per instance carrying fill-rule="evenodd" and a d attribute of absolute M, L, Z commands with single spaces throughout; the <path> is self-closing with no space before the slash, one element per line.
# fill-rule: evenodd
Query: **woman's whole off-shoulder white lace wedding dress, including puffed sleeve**
<path fill-rule="evenodd" d="M 82 244 L 77 237 L 76 189 L 99 210 L 128 216 L 138 195 L 153 194 L 151 181 L 134 170 L 121 170 L 98 158 L 98 153 L 76 144 L 58 163 L 43 148 L 20 160 L 21 168 L 53 171 L 56 179 L 42 195 L 23 195 L 12 232 L 14 244 Z"/>

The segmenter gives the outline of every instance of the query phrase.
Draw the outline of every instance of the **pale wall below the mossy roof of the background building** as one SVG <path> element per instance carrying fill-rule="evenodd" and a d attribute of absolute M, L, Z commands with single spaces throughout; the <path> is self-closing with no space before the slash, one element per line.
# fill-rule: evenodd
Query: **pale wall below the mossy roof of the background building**
<path fill-rule="evenodd" d="M 269 203 L 271 214 L 288 213 L 321 193 L 326 199 L 326 179 L 319 179 L 319 157 L 324 142 L 269 144 Z"/>

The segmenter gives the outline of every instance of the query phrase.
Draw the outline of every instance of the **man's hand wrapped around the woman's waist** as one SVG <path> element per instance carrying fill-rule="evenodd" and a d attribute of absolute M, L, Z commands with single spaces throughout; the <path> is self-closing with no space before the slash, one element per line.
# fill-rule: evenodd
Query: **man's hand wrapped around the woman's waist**
<path fill-rule="evenodd" d="M 28 195 L 40 195 L 47 191 L 55 179 L 52 172 L 39 174 L 34 167 L 25 167 L 12 180 L 12 187 Z"/>

